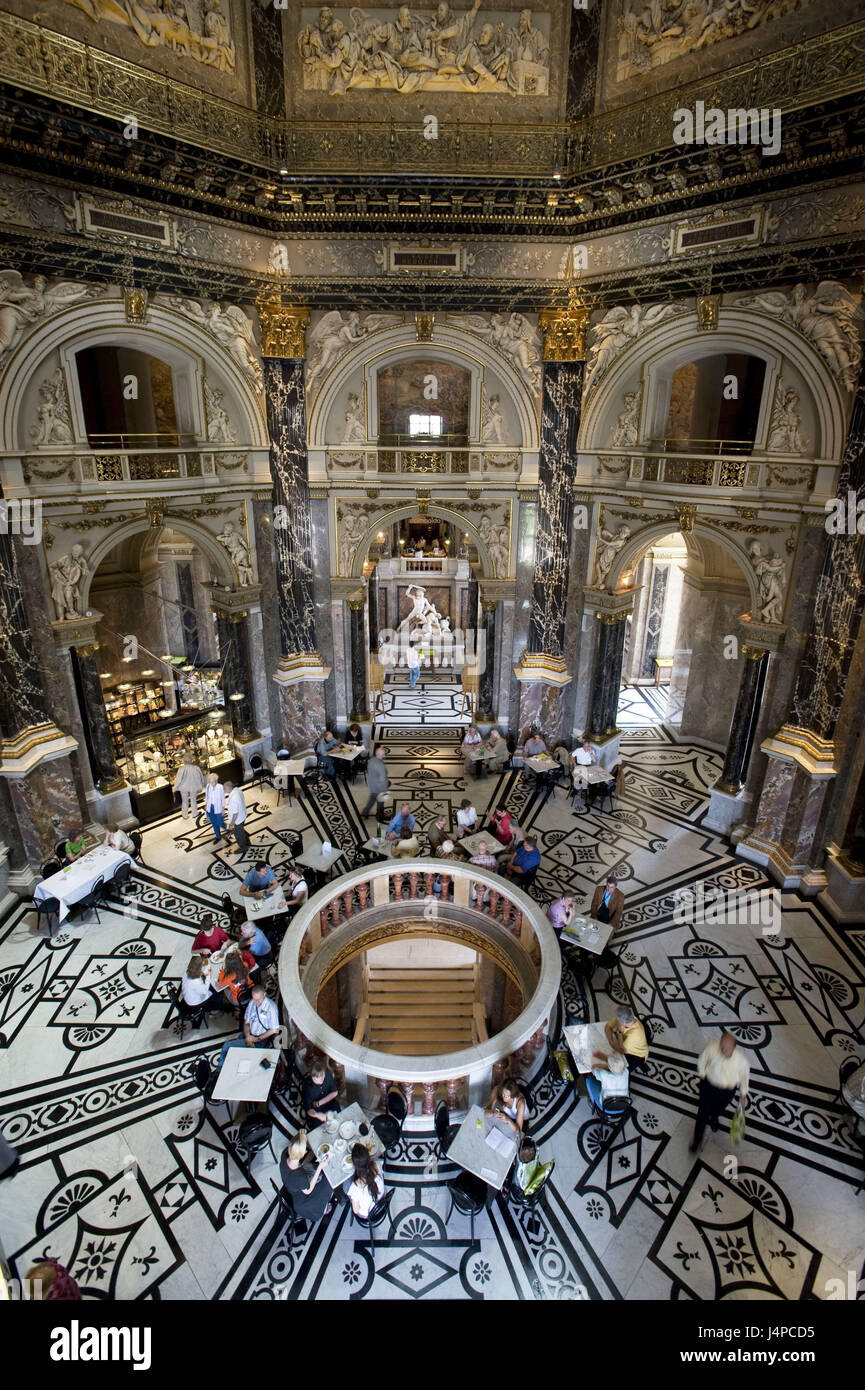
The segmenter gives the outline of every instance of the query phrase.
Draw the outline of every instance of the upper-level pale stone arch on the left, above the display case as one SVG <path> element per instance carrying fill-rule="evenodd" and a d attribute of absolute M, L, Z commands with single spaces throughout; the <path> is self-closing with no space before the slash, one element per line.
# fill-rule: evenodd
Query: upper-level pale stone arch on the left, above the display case
<path fill-rule="evenodd" d="M 28 449 L 24 400 L 33 375 L 57 352 L 67 370 L 71 356 L 103 343 L 138 348 L 171 366 L 185 363 L 195 392 L 196 434 L 206 439 L 203 377 L 209 366 L 227 382 L 241 413 L 239 448 L 268 448 L 263 396 L 241 371 L 231 353 L 203 325 L 161 303 L 147 309 L 145 324 L 127 322 L 122 299 L 83 300 L 51 314 L 13 350 L 0 381 L 0 448 L 4 453 Z M 60 446 L 56 452 L 63 452 Z M 67 446 L 68 448 L 68 446 Z"/>

